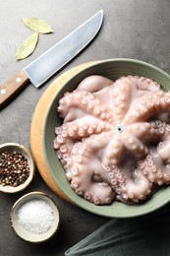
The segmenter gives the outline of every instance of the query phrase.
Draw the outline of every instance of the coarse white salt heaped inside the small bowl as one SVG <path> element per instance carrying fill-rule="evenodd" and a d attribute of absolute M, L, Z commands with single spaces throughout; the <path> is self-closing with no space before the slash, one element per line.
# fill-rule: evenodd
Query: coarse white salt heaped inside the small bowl
<path fill-rule="evenodd" d="M 18 211 L 19 224 L 32 233 L 45 233 L 54 224 L 54 214 L 44 200 L 29 200 Z"/>

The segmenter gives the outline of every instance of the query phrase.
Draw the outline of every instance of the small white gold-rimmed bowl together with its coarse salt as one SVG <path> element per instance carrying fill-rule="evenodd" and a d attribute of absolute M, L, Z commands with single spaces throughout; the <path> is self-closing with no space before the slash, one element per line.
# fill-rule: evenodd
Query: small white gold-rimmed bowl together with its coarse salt
<path fill-rule="evenodd" d="M 58 230 L 60 216 L 55 202 L 42 192 L 30 192 L 13 206 L 10 221 L 14 232 L 28 242 L 44 242 Z"/>

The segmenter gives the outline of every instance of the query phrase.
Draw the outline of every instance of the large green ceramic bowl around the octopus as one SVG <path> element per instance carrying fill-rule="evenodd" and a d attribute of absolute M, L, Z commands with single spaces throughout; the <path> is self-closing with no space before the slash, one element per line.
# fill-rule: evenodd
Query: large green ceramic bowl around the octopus
<path fill-rule="evenodd" d="M 150 199 L 142 204 L 130 206 L 121 202 L 114 202 L 109 206 L 96 206 L 77 195 L 67 181 L 65 172 L 53 149 L 53 140 L 55 138 L 54 128 L 55 126 L 61 125 L 61 119 L 57 114 L 57 105 L 59 99 L 65 92 L 75 90 L 79 83 L 89 75 L 101 75 L 116 80 L 121 76 L 130 74 L 152 78 L 161 84 L 162 88 L 166 91 L 170 86 L 170 76 L 148 63 L 134 59 L 108 59 L 98 61 L 71 77 L 56 92 L 46 111 L 43 123 L 43 155 L 50 175 L 56 185 L 77 206 L 90 213 L 110 218 L 132 218 L 155 211 L 170 201 L 170 186 L 161 187 Z"/>

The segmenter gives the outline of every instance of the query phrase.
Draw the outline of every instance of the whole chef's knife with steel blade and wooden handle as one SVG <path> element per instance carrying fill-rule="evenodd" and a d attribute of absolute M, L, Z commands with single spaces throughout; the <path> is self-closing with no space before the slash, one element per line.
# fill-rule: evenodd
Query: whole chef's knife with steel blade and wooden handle
<path fill-rule="evenodd" d="M 38 88 L 71 59 L 73 59 L 99 32 L 103 11 L 99 11 L 82 26 L 71 32 L 53 47 L 0 85 L 0 108 L 24 88 L 28 82 Z"/>

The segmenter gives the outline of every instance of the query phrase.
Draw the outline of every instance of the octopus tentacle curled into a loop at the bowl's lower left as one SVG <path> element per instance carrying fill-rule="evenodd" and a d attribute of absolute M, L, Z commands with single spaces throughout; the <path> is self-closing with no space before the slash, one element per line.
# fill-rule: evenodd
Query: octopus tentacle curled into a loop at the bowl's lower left
<path fill-rule="evenodd" d="M 85 147 L 85 154 L 83 147 Z M 74 152 L 69 160 L 69 170 L 67 171 L 72 188 L 76 193 L 81 193 L 86 200 L 96 205 L 110 204 L 115 193 L 106 182 L 100 160 L 91 154 L 85 143 L 80 144 L 77 150 L 78 152 Z"/>

